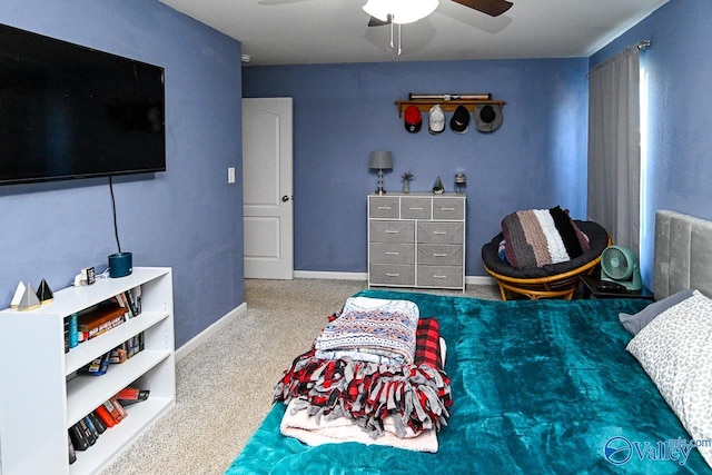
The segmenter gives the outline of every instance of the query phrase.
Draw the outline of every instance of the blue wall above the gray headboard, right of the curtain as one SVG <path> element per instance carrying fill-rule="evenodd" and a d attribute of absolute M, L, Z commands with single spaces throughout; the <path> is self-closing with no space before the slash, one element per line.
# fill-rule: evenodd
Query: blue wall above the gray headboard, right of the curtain
<path fill-rule="evenodd" d="M 643 39 L 649 73 L 649 157 L 641 266 L 653 280 L 654 214 L 712 219 L 712 2 L 671 0 L 591 58 L 597 65 Z"/>

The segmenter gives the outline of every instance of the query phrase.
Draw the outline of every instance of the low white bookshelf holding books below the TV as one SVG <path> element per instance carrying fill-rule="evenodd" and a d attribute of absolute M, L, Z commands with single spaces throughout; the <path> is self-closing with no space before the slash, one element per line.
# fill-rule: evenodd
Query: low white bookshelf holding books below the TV
<path fill-rule="evenodd" d="M 65 353 L 63 319 L 141 286 L 141 313 Z M 77 375 L 96 357 L 145 331 L 145 349 L 103 376 Z M 36 310 L 0 311 L 0 454 L 3 475 L 91 474 L 110 463 L 176 400 L 172 271 L 135 267 L 131 275 L 55 291 Z M 69 464 L 68 429 L 131 384 L 150 390 L 127 406 L 128 417 L 107 428 Z"/>

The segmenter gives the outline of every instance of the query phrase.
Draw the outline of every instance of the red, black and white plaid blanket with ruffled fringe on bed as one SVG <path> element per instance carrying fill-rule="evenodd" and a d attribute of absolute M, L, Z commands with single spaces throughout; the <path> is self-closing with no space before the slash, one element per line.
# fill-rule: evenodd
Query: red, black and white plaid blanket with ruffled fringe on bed
<path fill-rule="evenodd" d="M 413 364 L 322 359 L 315 353 L 312 347 L 295 358 L 275 387 L 275 400 L 289 404 L 291 399 L 300 399 L 298 407 L 317 419 L 347 417 L 372 438 L 384 434 L 384 420 L 389 416 L 398 437 L 425 429 L 439 431 L 447 425 L 453 400 L 434 318 L 422 318 L 418 323 Z"/>

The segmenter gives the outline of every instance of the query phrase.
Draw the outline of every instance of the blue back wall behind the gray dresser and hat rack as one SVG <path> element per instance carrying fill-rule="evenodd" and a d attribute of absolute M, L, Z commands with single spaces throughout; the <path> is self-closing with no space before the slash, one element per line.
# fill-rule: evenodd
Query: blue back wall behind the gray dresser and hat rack
<path fill-rule="evenodd" d="M 479 249 L 508 212 L 562 205 L 586 214 L 587 59 L 247 67 L 245 97 L 294 98 L 295 269 L 366 271 L 366 195 L 372 150 L 392 150 L 385 188 L 453 191 L 467 175 L 467 275 L 484 275 Z M 471 123 L 439 136 L 405 130 L 395 100 L 408 92 L 492 92 L 505 100 L 492 135 Z M 449 121 L 451 113 L 446 118 Z M 427 115 L 424 116 L 427 120 Z"/>

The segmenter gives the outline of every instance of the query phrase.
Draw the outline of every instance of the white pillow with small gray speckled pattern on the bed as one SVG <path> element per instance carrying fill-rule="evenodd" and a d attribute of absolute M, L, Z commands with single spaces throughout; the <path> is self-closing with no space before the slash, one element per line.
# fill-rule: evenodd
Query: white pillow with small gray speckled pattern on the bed
<path fill-rule="evenodd" d="M 712 439 L 712 300 L 695 290 L 627 345 L 693 439 Z M 712 447 L 698 447 L 712 467 Z"/>

